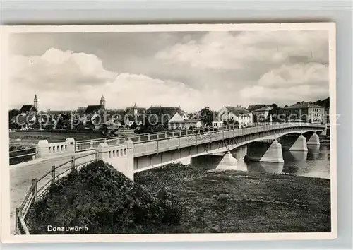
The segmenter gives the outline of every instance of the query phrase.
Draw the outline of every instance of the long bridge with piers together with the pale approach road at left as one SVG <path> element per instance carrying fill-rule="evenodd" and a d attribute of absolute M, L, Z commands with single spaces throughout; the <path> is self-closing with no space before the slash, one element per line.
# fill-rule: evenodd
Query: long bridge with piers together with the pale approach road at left
<path fill-rule="evenodd" d="M 11 212 L 16 218 L 13 224 L 18 227 L 18 221 L 24 220 L 30 206 L 26 204 L 40 198 L 55 179 L 94 160 L 108 162 L 132 180 L 136 172 L 205 155 L 221 157 L 217 163 L 221 169 L 237 169 L 237 160 L 241 159 L 234 158 L 232 150 L 246 146 L 246 155 L 251 160 L 282 162 L 282 149 L 306 151 L 307 145 L 320 144 L 318 133 L 325 134 L 326 129 L 321 124 L 278 123 L 244 129 L 224 126 L 164 131 L 88 141 L 67 138 L 61 143 L 42 140 L 36 145 L 35 160 L 11 166 L 11 210 L 16 210 L 16 216 Z M 44 175 L 40 177 L 41 174 Z M 21 223 L 24 225 L 23 221 Z"/>

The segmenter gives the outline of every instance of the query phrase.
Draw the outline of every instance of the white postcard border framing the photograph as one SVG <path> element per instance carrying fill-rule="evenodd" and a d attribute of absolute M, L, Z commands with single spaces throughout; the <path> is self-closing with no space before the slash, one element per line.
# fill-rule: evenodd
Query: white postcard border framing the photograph
<path fill-rule="evenodd" d="M 177 31 L 268 31 L 328 30 L 330 117 L 336 117 L 336 41 L 335 23 L 249 23 L 249 24 L 168 24 L 168 25 L 56 25 L 1 26 L 1 117 L 8 117 L 8 35 L 30 32 L 177 32 Z M 1 127 L 1 241 L 22 242 L 207 242 L 337 239 L 337 122 L 330 124 L 331 232 L 304 233 L 232 233 L 232 234 L 10 234 L 10 166 L 8 163 L 8 120 Z"/>

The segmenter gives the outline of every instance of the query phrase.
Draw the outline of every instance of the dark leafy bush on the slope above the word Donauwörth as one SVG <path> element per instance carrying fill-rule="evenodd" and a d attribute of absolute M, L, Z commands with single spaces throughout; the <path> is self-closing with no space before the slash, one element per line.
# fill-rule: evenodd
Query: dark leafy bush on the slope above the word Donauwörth
<path fill-rule="evenodd" d="M 102 161 L 56 181 L 44 198 L 32 207 L 28 227 L 32 234 L 47 232 L 47 226 L 81 227 L 88 234 L 154 233 L 179 224 L 181 210 L 172 196 L 156 196 L 134 184 Z"/>

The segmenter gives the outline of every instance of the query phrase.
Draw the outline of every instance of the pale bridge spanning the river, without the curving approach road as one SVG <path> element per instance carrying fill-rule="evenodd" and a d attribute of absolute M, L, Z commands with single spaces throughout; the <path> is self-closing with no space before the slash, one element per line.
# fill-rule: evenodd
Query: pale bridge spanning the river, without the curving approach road
<path fill-rule="evenodd" d="M 322 124 L 278 123 L 244 129 L 224 126 L 220 129 L 206 128 L 202 131 L 200 129 L 164 131 L 126 138 L 88 141 L 67 138 L 63 143 L 48 143 L 44 140 L 39 141 L 37 145 L 36 157 L 96 152 L 97 159 L 109 162 L 133 179 L 134 172 L 159 167 L 186 157 L 222 155 L 251 143 L 252 148 L 255 146 L 256 150 L 249 148 L 247 155 L 249 159 L 282 162 L 282 149 L 307 150 L 308 144 L 319 145 L 318 133 L 322 134 L 325 131 L 326 127 Z M 259 143 L 268 145 L 260 146 Z"/>

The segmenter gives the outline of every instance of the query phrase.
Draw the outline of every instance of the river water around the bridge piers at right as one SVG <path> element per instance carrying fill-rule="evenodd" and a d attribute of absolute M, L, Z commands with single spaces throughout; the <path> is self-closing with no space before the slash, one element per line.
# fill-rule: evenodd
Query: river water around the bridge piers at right
<path fill-rule="evenodd" d="M 246 150 L 246 147 L 244 147 Z M 237 159 L 237 169 L 248 172 L 268 172 L 268 173 L 285 173 L 294 174 L 304 177 L 317 177 L 330 179 L 330 145 L 321 144 L 320 146 L 308 145 L 308 151 L 289 151 L 283 150 L 284 163 L 273 163 L 273 162 L 244 162 L 240 160 L 244 157 L 246 152 L 240 153 L 240 157 L 237 157 L 237 153 L 233 154 Z M 189 164 L 189 159 L 181 161 L 183 164 Z M 191 163 L 193 167 L 205 167 L 205 161 Z M 201 166 L 203 165 L 203 166 Z M 208 167 L 208 168 L 214 168 Z"/>

